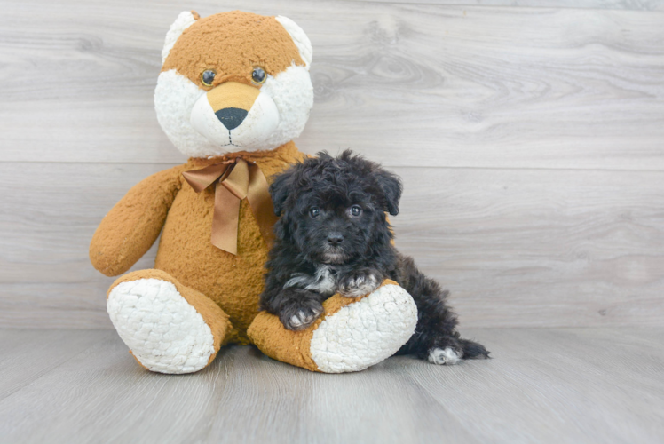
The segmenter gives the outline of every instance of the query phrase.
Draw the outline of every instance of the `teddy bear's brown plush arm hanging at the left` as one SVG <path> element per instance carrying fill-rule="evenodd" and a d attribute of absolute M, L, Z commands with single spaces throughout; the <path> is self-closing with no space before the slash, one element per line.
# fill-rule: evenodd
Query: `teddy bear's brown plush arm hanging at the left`
<path fill-rule="evenodd" d="M 182 170 L 183 166 L 177 166 L 153 174 L 115 204 L 92 236 L 92 266 L 107 276 L 117 276 L 150 249 L 180 189 Z"/>

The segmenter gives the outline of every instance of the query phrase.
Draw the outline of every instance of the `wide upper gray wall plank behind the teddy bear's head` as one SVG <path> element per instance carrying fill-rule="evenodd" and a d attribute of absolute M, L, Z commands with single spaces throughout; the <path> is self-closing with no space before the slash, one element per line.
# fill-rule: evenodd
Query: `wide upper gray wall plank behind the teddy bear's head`
<path fill-rule="evenodd" d="M 174 0 L 5 2 L 0 161 L 181 162 L 152 94 Z M 203 1 L 295 19 L 316 105 L 299 144 L 388 165 L 662 169 L 664 14 Z M 47 73 L 47 74 L 46 74 Z"/>

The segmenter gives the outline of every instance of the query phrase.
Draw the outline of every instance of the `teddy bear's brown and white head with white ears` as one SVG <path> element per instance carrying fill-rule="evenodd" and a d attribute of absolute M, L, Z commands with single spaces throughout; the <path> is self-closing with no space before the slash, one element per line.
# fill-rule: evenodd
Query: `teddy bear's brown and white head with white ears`
<path fill-rule="evenodd" d="M 279 147 L 313 105 L 312 44 L 293 20 L 182 12 L 162 50 L 157 120 L 190 157 Z"/>

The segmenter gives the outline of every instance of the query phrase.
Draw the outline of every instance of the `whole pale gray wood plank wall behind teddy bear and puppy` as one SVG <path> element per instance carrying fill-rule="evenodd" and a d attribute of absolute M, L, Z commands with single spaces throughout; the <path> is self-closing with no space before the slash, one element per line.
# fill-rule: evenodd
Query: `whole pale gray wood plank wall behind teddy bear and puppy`
<path fill-rule="evenodd" d="M 464 325 L 661 323 L 663 4 L 1 1 L 0 326 L 110 328 L 88 242 L 130 186 L 184 161 L 152 95 L 188 7 L 304 28 L 316 99 L 298 146 L 402 176 L 398 245 Z"/>

